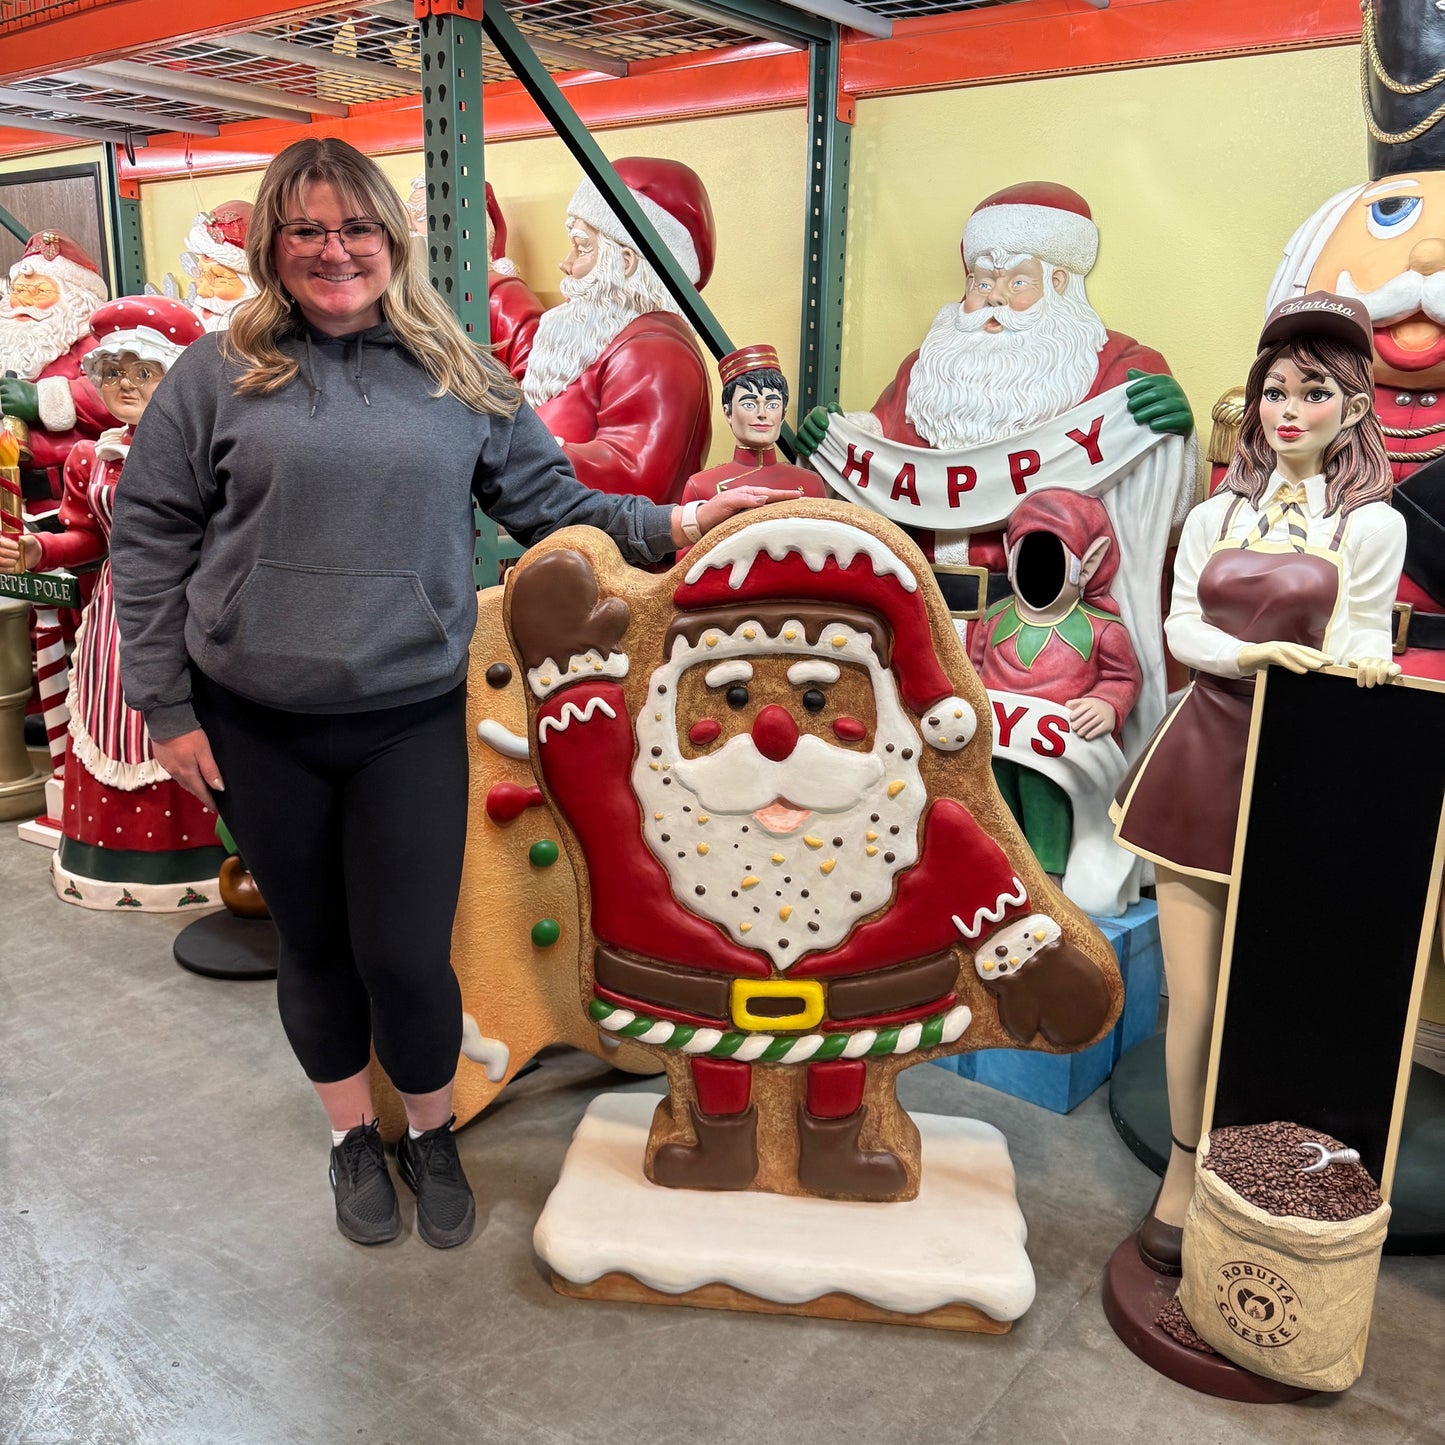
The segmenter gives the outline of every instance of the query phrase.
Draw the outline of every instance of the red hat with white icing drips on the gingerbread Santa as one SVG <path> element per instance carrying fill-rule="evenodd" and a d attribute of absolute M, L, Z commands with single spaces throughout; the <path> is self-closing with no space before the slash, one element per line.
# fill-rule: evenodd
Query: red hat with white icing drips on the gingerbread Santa
<path fill-rule="evenodd" d="M 798 603 L 802 623 L 806 616 L 819 617 L 819 604 L 825 611 L 829 603 L 874 613 L 892 633 L 884 655 L 855 629 L 827 621 L 803 626 L 796 636 L 785 631 L 783 639 L 789 650 L 821 657 L 864 660 L 854 653 L 871 649 L 877 665 L 893 673 L 903 705 L 919 720 L 931 747 L 952 753 L 974 736 L 972 705 L 954 694 L 938 660 L 920 578 L 871 532 L 832 517 L 769 517 L 698 551 L 702 555 L 672 597 L 681 613 L 705 618 L 709 608 L 725 607 L 736 616 L 747 603 Z M 718 640 L 709 647 L 705 629 L 696 636 L 699 655 L 725 650 Z M 730 629 L 730 636 L 736 640 L 737 630 Z M 672 660 L 678 660 L 676 647 Z"/>

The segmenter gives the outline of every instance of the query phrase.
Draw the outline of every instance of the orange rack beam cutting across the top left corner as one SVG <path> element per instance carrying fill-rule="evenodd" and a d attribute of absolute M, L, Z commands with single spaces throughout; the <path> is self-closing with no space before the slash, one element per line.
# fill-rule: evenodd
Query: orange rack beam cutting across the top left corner
<path fill-rule="evenodd" d="M 179 45 L 227 30 L 276 25 L 298 16 L 325 14 L 335 0 L 108 0 L 90 10 L 77 10 L 33 25 L 12 22 L 0 26 L 7 84 L 38 75 L 53 75 L 82 65 L 98 65 L 158 45 Z M 14 66 L 12 69 L 12 66 Z"/>

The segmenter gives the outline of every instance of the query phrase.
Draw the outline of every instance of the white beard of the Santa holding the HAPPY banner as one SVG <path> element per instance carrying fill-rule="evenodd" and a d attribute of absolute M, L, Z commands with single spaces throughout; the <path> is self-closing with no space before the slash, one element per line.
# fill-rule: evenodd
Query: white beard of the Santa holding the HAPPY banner
<path fill-rule="evenodd" d="M 990 318 L 1007 329 L 983 331 Z M 1084 400 L 1107 338 L 1081 276 L 1062 295 L 1046 288 L 1026 312 L 949 302 L 919 347 L 905 415 L 944 451 L 1016 436 Z"/>

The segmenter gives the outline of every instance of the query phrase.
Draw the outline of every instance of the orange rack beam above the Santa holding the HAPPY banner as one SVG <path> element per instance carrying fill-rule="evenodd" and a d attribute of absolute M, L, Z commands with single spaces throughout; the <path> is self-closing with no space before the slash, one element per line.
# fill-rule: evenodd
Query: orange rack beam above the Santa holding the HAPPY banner
<path fill-rule="evenodd" d="M 842 48 L 842 88 L 896 95 L 1224 55 L 1350 45 L 1358 0 L 1026 0 L 894 20 L 887 40 Z"/>

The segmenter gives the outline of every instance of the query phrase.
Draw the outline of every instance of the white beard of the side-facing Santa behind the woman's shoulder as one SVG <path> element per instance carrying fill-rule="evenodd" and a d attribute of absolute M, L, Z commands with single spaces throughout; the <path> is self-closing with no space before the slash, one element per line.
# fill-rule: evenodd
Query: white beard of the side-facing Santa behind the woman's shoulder
<path fill-rule="evenodd" d="M 542 406 L 565 392 L 611 344 L 613 338 L 649 311 L 678 312 L 656 272 L 639 257 L 631 276 L 621 247 L 597 237 L 597 262 L 579 277 L 564 276 L 561 306 L 542 314 L 532 355 L 522 380 L 530 406 Z"/>

